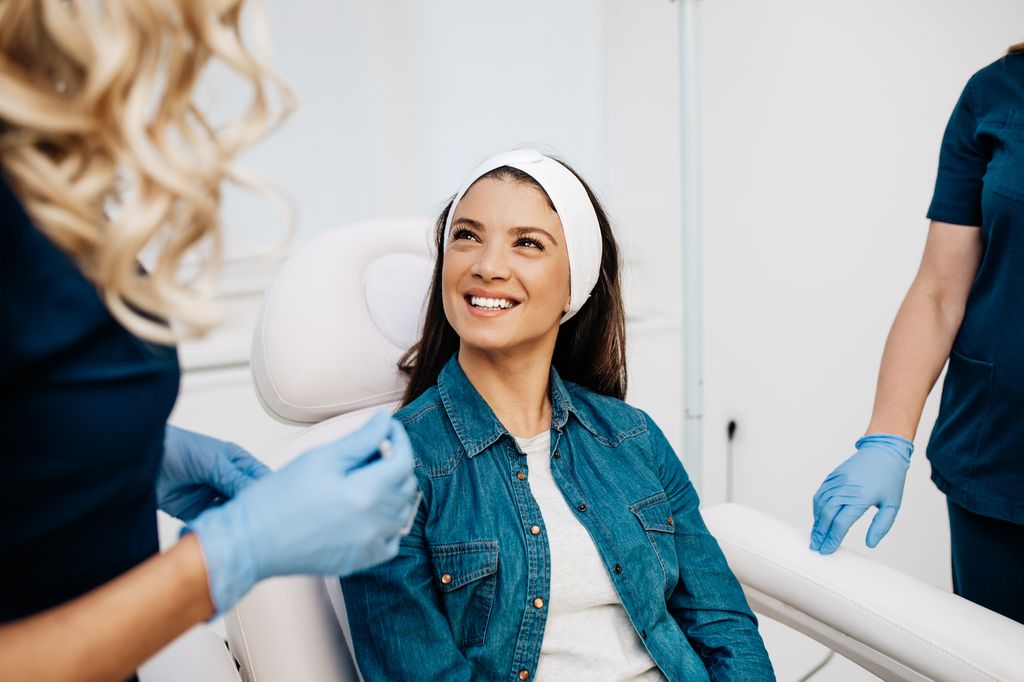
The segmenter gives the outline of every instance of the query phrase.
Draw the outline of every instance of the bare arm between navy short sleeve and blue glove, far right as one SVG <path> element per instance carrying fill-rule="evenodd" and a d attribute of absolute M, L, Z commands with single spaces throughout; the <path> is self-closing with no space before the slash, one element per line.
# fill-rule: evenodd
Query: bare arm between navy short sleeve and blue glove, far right
<path fill-rule="evenodd" d="M 882 354 L 868 434 L 913 440 L 925 400 L 964 321 L 983 247 L 978 227 L 932 221 L 918 275 Z"/>

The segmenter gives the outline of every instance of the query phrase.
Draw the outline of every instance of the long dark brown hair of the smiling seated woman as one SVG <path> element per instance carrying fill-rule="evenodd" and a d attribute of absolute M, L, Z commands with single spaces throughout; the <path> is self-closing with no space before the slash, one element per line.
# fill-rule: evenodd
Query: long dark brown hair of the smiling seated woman
<path fill-rule="evenodd" d="M 601 229 L 602 254 L 601 272 L 590 299 L 558 330 L 552 365 L 563 379 L 586 386 L 597 393 L 622 399 L 626 397 L 626 312 L 618 275 L 618 245 L 615 244 L 611 232 L 611 222 L 590 185 L 568 164 L 563 161 L 559 163 L 580 179 L 591 204 L 594 205 L 594 212 L 597 214 L 597 222 Z M 485 177 L 529 184 L 547 197 L 547 193 L 537 180 L 516 168 L 509 166 L 496 168 L 480 176 L 477 182 Z M 416 345 L 398 360 L 398 369 L 410 375 L 409 385 L 401 397 L 403 407 L 437 382 L 437 375 L 440 374 L 444 364 L 459 349 L 459 336 L 444 316 L 444 307 L 441 303 L 444 223 L 449 212 L 454 210 L 452 205 L 454 201 L 453 198 L 437 216 L 437 260 L 434 263 L 433 280 L 427 298 L 423 334 Z M 554 210 L 550 198 L 548 205 Z"/>

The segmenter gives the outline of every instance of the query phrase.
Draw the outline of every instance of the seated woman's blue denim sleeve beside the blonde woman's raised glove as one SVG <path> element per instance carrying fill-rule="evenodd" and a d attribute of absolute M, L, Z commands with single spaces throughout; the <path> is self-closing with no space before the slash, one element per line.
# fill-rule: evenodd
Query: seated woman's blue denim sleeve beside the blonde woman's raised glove
<path fill-rule="evenodd" d="M 355 660 L 367 682 L 473 678 L 434 587 L 425 509 L 426 499 L 398 556 L 341 579 Z"/>

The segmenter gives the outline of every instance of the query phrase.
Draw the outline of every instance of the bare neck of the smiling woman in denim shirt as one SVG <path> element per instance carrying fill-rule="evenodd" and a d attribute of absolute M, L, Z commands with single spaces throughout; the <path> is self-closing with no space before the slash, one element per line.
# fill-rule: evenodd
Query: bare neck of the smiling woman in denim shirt
<path fill-rule="evenodd" d="M 522 438 L 551 428 L 551 353 L 481 352 L 460 346 L 459 367 L 509 433 Z"/>

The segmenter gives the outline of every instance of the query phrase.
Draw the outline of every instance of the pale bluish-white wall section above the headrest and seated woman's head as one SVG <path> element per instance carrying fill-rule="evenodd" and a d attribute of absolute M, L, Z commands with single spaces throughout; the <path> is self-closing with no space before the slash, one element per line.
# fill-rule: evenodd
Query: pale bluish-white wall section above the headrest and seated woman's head
<path fill-rule="evenodd" d="M 300 209 L 299 237 L 434 215 L 487 156 L 546 144 L 603 189 L 603 13 L 590 0 L 268 2 L 299 110 L 247 158 Z M 216 87 L 226 78 L 214 74 Z M 237 198 L 236 198 L 237 199 Z M 267 231 L 232 201 L 234 253 Z"/>

